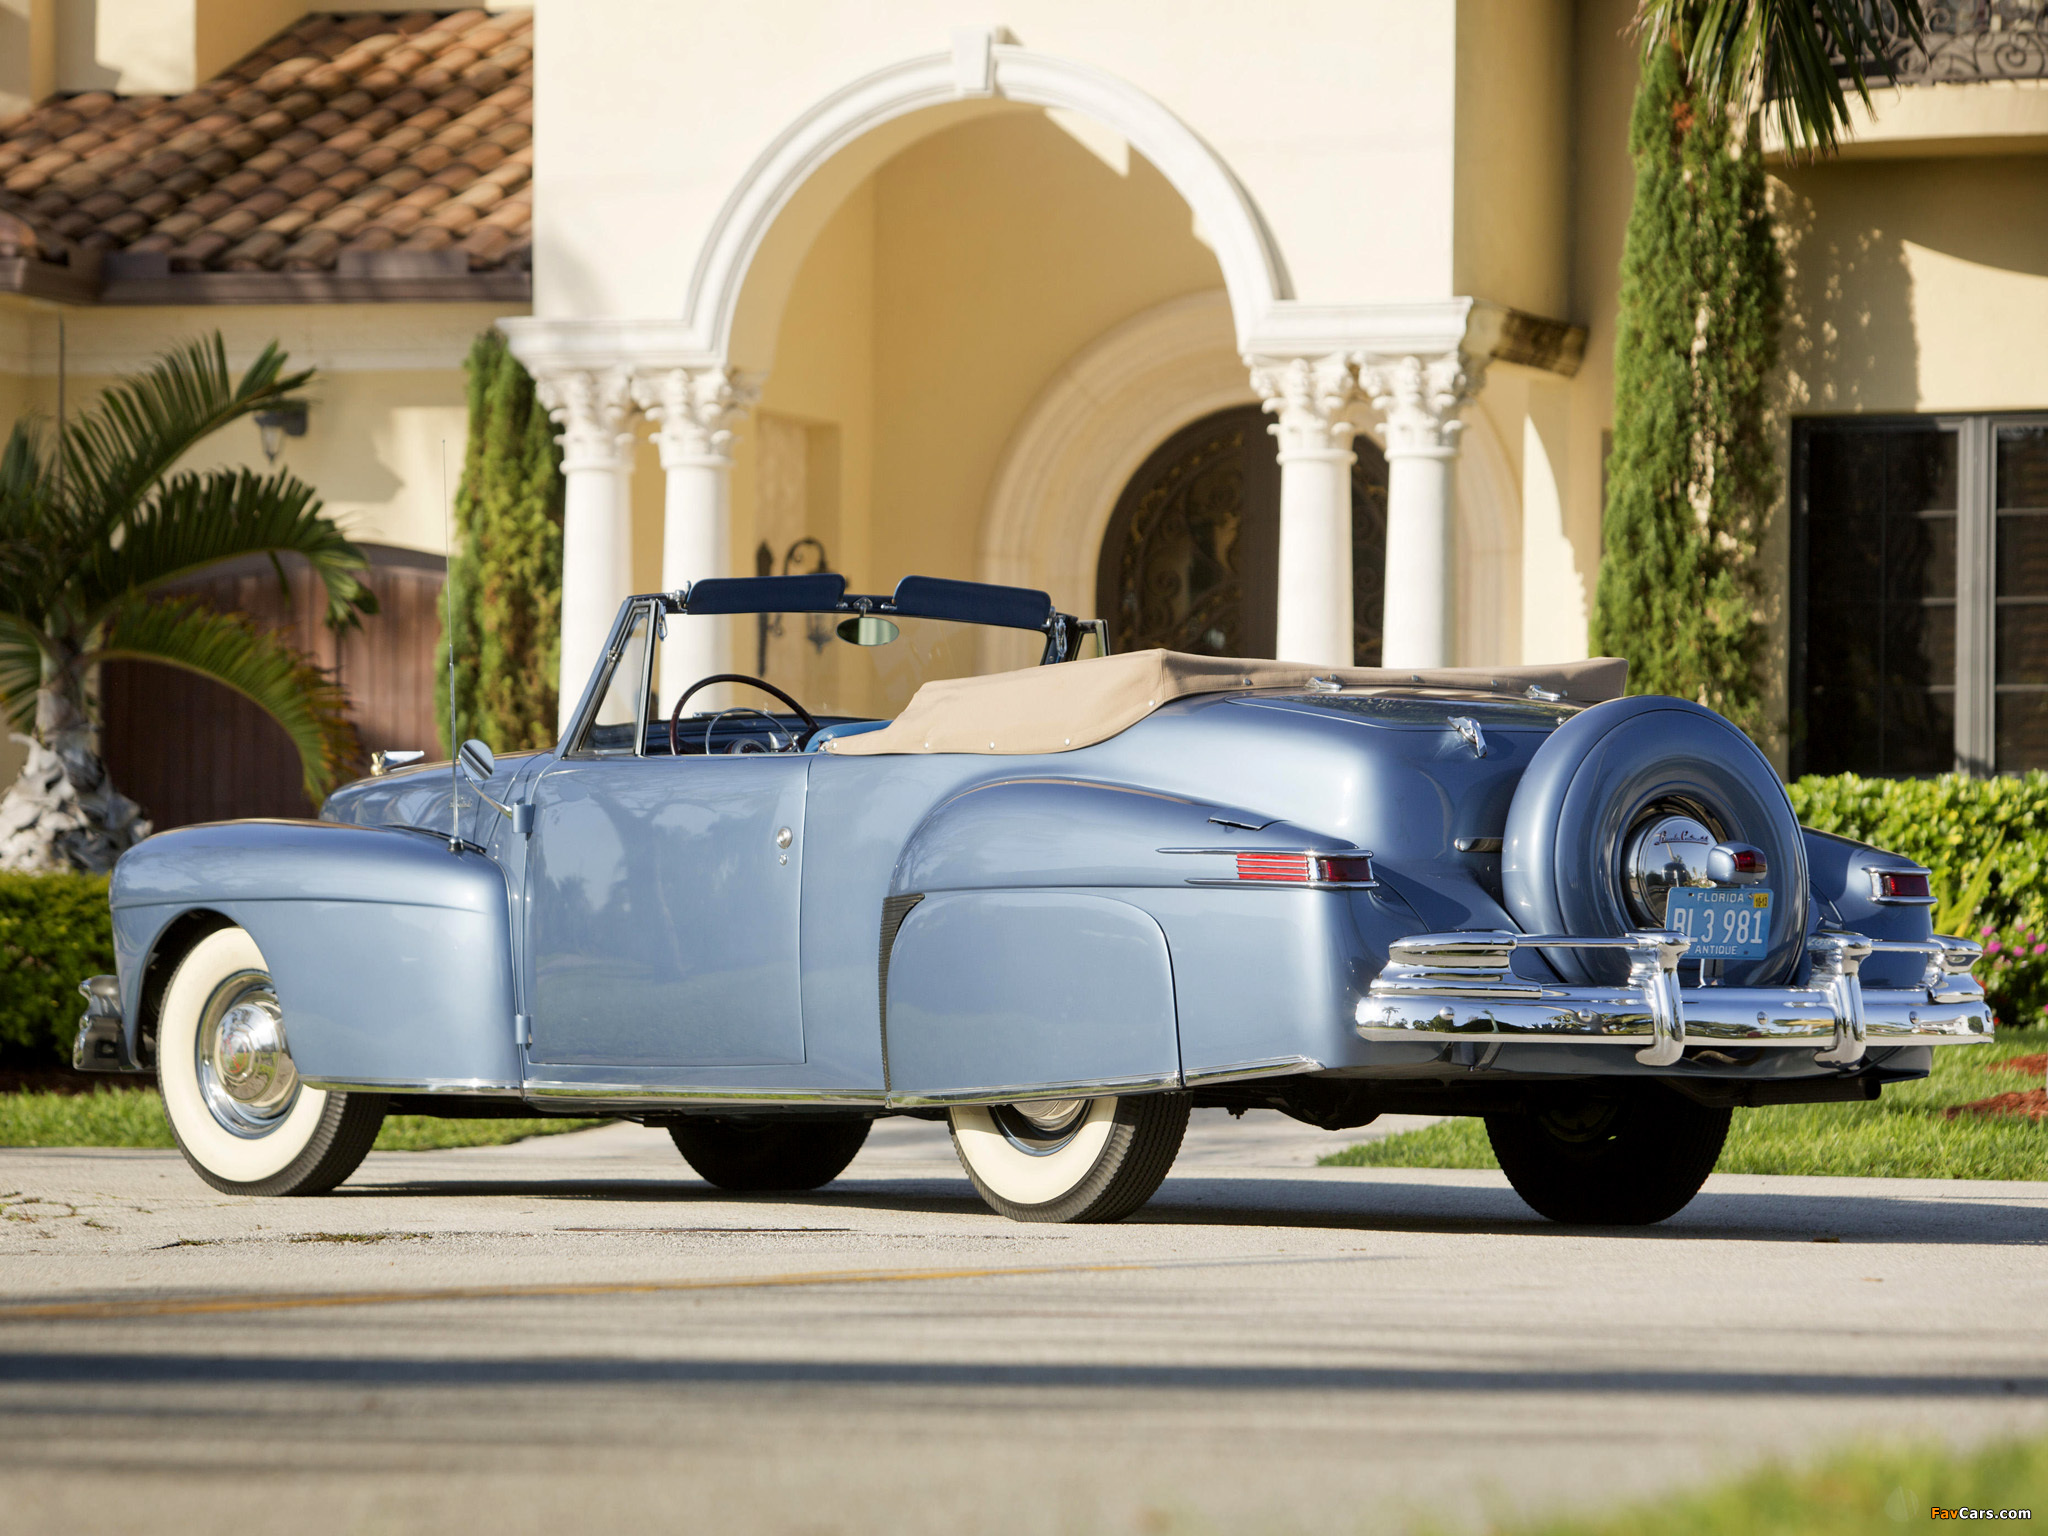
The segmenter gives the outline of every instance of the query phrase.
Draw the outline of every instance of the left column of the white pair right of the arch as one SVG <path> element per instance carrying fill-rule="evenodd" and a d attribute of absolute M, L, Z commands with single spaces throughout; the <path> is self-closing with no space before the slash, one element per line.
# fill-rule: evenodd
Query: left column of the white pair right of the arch
<path fill-rule="evenodd" d="M 1253 358 L 1278 420 L 1280 604 L 1274 655 L 1352 666 L 1352 367 L 1341 356 Z"/>

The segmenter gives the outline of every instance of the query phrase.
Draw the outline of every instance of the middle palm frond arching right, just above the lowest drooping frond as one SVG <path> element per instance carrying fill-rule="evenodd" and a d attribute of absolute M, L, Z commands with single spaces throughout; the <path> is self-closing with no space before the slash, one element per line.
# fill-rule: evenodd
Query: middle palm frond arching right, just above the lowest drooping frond
<path fill-rule="evenodd" d="M 119 545 L 100 543 L 74 578 L 82 614 L 96 618 L 133 592 L 240 555 L 303 555 L 328 592 L 328 623 L 346 629 L 377 612 L 362 586 L 369 559 L 328 518 L 313 487 L 289 473 L 182 473 L 162 481 L 129 518 Z"/>

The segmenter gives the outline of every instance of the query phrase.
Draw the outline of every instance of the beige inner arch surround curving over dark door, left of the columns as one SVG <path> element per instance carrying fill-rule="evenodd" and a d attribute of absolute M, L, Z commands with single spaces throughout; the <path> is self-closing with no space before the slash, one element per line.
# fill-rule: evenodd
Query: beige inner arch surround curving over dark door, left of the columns
<path fill-rule="evenodd" d="M 1042 588 L 1092 614 L 1102 537 L 1139 465 L 1190 422 L 1257 399 L 1223 293 L 1167 299 L 1104 332 L 1038 391 L 1004 449 L 981 580 Z"/>

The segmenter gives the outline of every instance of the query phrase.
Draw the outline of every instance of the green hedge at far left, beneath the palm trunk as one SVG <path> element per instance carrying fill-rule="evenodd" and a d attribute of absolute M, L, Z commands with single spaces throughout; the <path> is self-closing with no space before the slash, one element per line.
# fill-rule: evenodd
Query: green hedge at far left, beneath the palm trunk
<path fill-rule="evenodd" d="M 68 1067 L 78 983 L 113 969 L 104 874 L 0 872 L 0 1065 Z"/>

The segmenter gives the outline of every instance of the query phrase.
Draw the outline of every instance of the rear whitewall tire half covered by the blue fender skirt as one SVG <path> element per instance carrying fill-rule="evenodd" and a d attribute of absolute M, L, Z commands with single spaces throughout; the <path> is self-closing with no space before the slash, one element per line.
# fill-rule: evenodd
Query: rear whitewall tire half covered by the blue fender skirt
<path fill-rule="evenodd" d="M 975 1192 L 1012 1221 L 1122 1221 L 1174 1167 L 1186 1094 L 963 1104 L 952 1149 Z"/>

